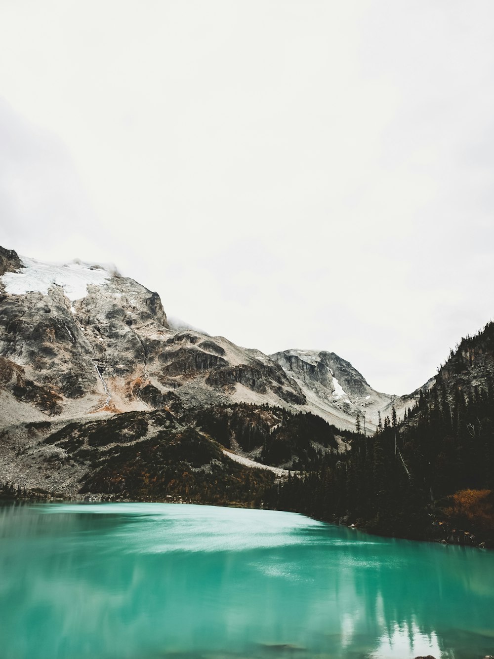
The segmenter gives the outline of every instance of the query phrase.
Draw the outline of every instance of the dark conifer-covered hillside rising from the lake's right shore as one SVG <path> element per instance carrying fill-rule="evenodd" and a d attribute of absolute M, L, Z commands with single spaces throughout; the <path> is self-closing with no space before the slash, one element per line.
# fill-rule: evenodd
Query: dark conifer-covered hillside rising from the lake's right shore
<path fill-rule="evenodd" d="M 382 534 L 494 541 L 494 324 L 462 339 L 398 420 L 359 432 L 272 492 L 270 505 Z M 473 536 L 473 538 L 472 538 Z"/>

